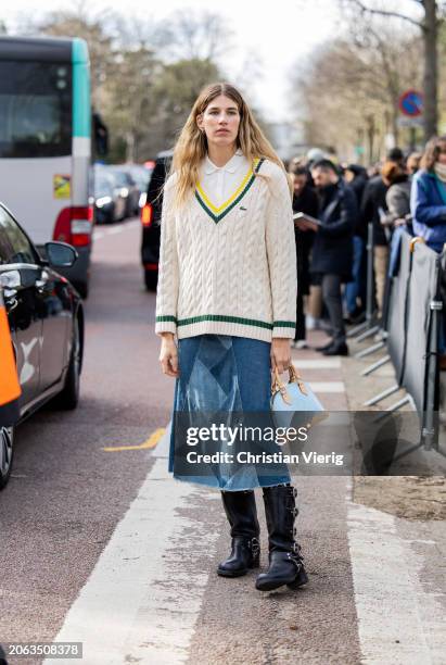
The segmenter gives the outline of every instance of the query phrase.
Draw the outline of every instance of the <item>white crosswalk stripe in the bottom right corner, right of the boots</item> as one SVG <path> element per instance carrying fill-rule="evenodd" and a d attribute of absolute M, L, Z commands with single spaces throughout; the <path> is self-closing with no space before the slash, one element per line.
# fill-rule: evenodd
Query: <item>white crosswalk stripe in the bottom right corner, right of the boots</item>
<path fill-rule="evenodd" d="M 438 593 L 419 581 L 422 557 L 397 532 L 395 517 L 351 500 L 348 543 L 358 633 L 367 665 L 444 663 L 446 617 Z"/>

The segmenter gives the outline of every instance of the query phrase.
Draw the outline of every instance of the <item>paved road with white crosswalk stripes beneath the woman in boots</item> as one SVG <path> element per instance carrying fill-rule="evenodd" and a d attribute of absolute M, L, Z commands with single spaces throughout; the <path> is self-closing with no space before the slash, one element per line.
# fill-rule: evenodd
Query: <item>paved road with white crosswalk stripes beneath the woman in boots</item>
<path fill-rule="evenodd" d="M 138 222 L 98 229 L 81 402 L 20 428 L 0 495 L 1 641 L 81 641 L 87 665 L 446 663 L 445 523 L 355 503 L 349 478 L 298 480 L 306 588 L 260 594 L 254 572 L 215 574 L 219 494 L 166 473 L 174 385 L 138 250 Z M 339 361 L 297 364 L 347 407 Z M 265 528 L 263 548 L 265 564 Z"/>

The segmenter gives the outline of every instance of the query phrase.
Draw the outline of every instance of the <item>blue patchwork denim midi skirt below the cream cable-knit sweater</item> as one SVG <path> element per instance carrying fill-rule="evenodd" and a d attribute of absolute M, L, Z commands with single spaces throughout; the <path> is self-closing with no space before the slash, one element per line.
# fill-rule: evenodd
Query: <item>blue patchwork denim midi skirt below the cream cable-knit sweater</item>
<path fill-rule="evenodd" d="M 200 475 L 181 473 L 179 451 L 186 450 L 184 428 L 176 415 L 191 412 L 259 412 L 268 419 L 271 396 L 270 342 L 230 335 L 199 335 L 178 340 L 180 376 L 176 379 L 168 469 L 178 480 L 225 491 L 250 490 L 290 482 L 286 465 L 265 473 L 254 464 L 213 463 Z M 218 449 L 218 442 L 215 450 Z"/>

